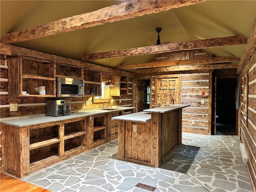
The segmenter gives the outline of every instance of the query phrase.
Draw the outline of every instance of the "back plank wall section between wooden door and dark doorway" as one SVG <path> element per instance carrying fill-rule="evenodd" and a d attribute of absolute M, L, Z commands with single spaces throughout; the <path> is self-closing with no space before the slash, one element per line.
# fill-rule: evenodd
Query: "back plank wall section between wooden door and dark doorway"
<path fill-rule="evenodd" d="M 190 105 L 182 109 L 183 132 L 211 134 L 211 79 L 212 71 L 182 74 L 181 104 Z"/>

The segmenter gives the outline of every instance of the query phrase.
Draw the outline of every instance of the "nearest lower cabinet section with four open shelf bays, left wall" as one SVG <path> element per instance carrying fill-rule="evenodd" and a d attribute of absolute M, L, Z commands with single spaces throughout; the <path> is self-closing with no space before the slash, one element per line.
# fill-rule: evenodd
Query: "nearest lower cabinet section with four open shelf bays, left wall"
<path fill-rule="evenodd" d="M 4 171 L 19 178 L 88 150 L 87 117 L 25 127 L 1 126 Z"/>

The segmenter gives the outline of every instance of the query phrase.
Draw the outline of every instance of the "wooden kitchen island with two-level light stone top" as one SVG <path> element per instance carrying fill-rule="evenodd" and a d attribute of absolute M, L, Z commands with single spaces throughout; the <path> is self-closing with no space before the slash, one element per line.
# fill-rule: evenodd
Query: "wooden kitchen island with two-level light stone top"
<path fill-rule="evenodd" d="M 159 167 L 182 142 L 182 108 L 169 105 L 113 117 L 119 120 L 118 159 Z"/>

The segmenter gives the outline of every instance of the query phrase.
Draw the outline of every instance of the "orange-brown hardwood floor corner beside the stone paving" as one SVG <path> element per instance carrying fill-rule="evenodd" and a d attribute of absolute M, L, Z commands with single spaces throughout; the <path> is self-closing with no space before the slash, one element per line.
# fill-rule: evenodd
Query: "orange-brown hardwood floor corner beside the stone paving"
<path fill-rule="evenodd" d="M 50 192 L 44 188 L 32 185 L 20 179 L 1 173 L 0 192 Z"/>

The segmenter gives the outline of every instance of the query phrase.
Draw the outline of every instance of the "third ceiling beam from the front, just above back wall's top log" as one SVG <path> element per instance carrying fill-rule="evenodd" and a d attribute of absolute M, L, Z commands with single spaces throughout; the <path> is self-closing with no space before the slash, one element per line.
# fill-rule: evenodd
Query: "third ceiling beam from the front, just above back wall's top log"
<path fill-rule="evenodd" d="M 116 69 L 125 70 L 125 69 L 158 68 L 158 67 L 181 66 L 181 65 L 189 65 L 189 64 L 225 63 L 225 62 L 234 62 L 234 61 L 239 61 L 239 57 L 223 56 L 223 57 L 200 58 L 200 59 L 157 61 L 157 62 L 141 63 L 141 64 L 120 65 Z"/>

